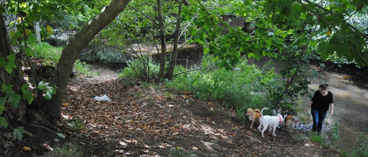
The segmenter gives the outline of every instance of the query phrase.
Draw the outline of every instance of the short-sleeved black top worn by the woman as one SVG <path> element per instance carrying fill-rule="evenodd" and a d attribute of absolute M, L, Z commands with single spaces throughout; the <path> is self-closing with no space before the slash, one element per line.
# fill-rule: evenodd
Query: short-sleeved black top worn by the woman
<path fill-rule="evenodd" d="M 323 96 L 321 92 L 314 92 L 313 98 L 311 100 L 312 109 L 316 109 L 319 112 L 326 112 L 329 109 L 330 103 L 333 103 L 332 92 L 328 91 L 328 94 Z"/>

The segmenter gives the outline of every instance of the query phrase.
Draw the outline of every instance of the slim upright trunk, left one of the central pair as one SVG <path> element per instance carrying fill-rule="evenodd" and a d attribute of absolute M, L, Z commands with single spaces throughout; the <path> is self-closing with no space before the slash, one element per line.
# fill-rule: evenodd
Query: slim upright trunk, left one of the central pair
<path fill-rule="evenodd" d="M 165 41 L 165 26 L 163 25 L 163 17 L 162 17 L 162 2 L 161 0 L 157 0 L 157 11 L 158 11 L 158 19 L 159 19 L 159 27 L 160 27 L 160 39 L 161 39 L 161 61 L 160 61 L 160 71 L 159 76 L 163 77 L 165 70 L 165 61 L 166 61 L 166 41 Z"/>

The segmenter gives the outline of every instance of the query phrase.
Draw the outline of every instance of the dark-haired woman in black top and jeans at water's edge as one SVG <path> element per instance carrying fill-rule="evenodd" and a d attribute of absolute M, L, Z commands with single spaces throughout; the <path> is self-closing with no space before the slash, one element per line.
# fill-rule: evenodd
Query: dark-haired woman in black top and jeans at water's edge
<path fill-rule="evenodd" d="M 319 85 L 319 90 L 314 92 L 313 98 L 309 106 L 305 109 L 308 112 L 312 107 L 311 113 L 313 117 L 312 132 L 317 132 L 319 135 L 322 130 L 323 120 L 325 120 L 327 110 L 331 106 L 331 116 L 333 114 L 333 96 L 332 92 L 327 91 L 328 84 Z"/>

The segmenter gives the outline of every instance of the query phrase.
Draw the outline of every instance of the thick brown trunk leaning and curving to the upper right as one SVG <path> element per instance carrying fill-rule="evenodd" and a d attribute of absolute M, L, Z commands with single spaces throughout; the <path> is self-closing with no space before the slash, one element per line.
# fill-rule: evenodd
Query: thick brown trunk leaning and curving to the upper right
<path fill-rule="evenodd" d="M 54 78 L 52 85 L 56 85 L 56 94 L 47 105 L 50 114 L 60 117 L 61 101 L 63 99 L 70 72 L 77 60 L 78 54 L 100 32 L 106 25 L 112 22 L 121 11 L 127 6 L 130 0 L 113 0 L 107 5 L 99 15 L 88 22 L 77 34 L 69 40 L 69 43 L 64 47 L 59 63 L 54 69 Z"/>

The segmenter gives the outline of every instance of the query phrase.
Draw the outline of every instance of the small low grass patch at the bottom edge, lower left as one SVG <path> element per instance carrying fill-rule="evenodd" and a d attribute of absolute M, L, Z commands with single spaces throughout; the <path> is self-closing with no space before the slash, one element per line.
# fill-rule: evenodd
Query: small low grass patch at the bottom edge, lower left
<path fill-rule="evenodd" d="M 55 150 L 47 153 L 49 156 L 60 157 L 84 157 L 85 152 L 77 143 L 67 143 L 61 147 L 56 147 Z"/>

